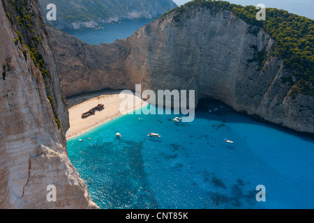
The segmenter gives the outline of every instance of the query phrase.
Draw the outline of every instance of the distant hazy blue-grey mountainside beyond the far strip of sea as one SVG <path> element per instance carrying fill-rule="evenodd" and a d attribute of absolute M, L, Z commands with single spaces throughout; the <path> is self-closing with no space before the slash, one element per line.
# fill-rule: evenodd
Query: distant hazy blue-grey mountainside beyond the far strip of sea
<path fill-rule="evenodd" d="M 176 7 L 172 0 L 40 0 L 43 12 L 49 3 L 57 6 L 57 21 L 47 21 L 58 29 L 96 28 L 121 20 L 152 19 Z"/>

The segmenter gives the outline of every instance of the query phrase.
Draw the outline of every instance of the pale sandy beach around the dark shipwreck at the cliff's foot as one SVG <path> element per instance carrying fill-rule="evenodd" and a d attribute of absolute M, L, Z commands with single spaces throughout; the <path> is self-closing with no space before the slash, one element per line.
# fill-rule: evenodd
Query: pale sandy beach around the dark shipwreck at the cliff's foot
<path fill-rule="evenodd" d="M 124 102 L 126 99 L 120 98 L 120 92 L 121 91 L 103 90 L 67 98 L 70 129 L 66 132 L 66 138 L 75 137 L 91 130 L 91 128 L 95 128 L 97 125 L 124 115 L 128 111 L 133 111 L 143 105 L 147 105 L 147 102 L 141 98 L 131 95 L 131 97 L 133 97 L 133 107 L 129 107 L 126 109 L 126 112 L 121 114 L 120 105 L 121 102 Z M 96 111 L 94 115 L 88 118 L 82 118 L 84 112 L 88 112 L 89 109 L 96 107 L 98 104 L 105 105 L 105 109 Z"/>

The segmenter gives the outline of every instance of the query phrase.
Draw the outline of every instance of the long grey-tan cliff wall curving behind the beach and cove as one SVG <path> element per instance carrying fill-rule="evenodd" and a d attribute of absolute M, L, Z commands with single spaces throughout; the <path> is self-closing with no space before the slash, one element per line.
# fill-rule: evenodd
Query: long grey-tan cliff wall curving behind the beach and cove
<path fill-rule="evenodd" d="M 314 133 L 313 95 L 289 95 L 292 77 L 271 56 L 275 44 L 228 10 L 196 7 L 168 13 L 126 40 L 90 46 L 50 29 L 66 96 L 102 88 L 195 90 L 238 112 Z M 69 46 L 69 47 L 66 47 Z M 266 59 L 265 59 L 266 58 Z"/>

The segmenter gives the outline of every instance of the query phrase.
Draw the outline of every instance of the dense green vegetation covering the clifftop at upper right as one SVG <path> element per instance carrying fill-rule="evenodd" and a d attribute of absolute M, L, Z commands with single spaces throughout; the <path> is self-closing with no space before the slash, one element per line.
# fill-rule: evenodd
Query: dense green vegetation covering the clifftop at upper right
<path fill-rule="evenodd" d="M 297 93 L 314 95 L 314 21 L 306 17 L 288 13 L 285 10 L 267 8 L 265 21 L 256 20 L 255 6 L 240 6 L 227 1 L 195 0 L 174 8 L 163 16 L 174 12 L 174 21 L 184 19 L 184 13 L 197 7 L 213 10 L 230 10 L 248 24 L 255 26 L 250 32 L 257 35 L 263 29 L 276 41 L 272 56 L 283 59 L 285 68 L 292 70 L 297 81 L 290 95 Z M 163 17 L 162 16 L 162 17 Z M 260 63 L 260 59 L 258 59 Z"/>

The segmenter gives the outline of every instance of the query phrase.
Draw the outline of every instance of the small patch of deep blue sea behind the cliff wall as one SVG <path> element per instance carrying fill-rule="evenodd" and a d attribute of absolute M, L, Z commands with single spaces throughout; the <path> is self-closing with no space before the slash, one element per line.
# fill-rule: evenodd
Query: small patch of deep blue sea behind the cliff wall
<path fill-rule="evenodd" d="M 153 20 L 129 20 L 105 24 L 100 29 L 82 29 L 67 31 L 86 43 L 98 45 L 100 43 L 113 43 L 117 39 L 132 36 L 140 26 L 149 24 Z"/>

